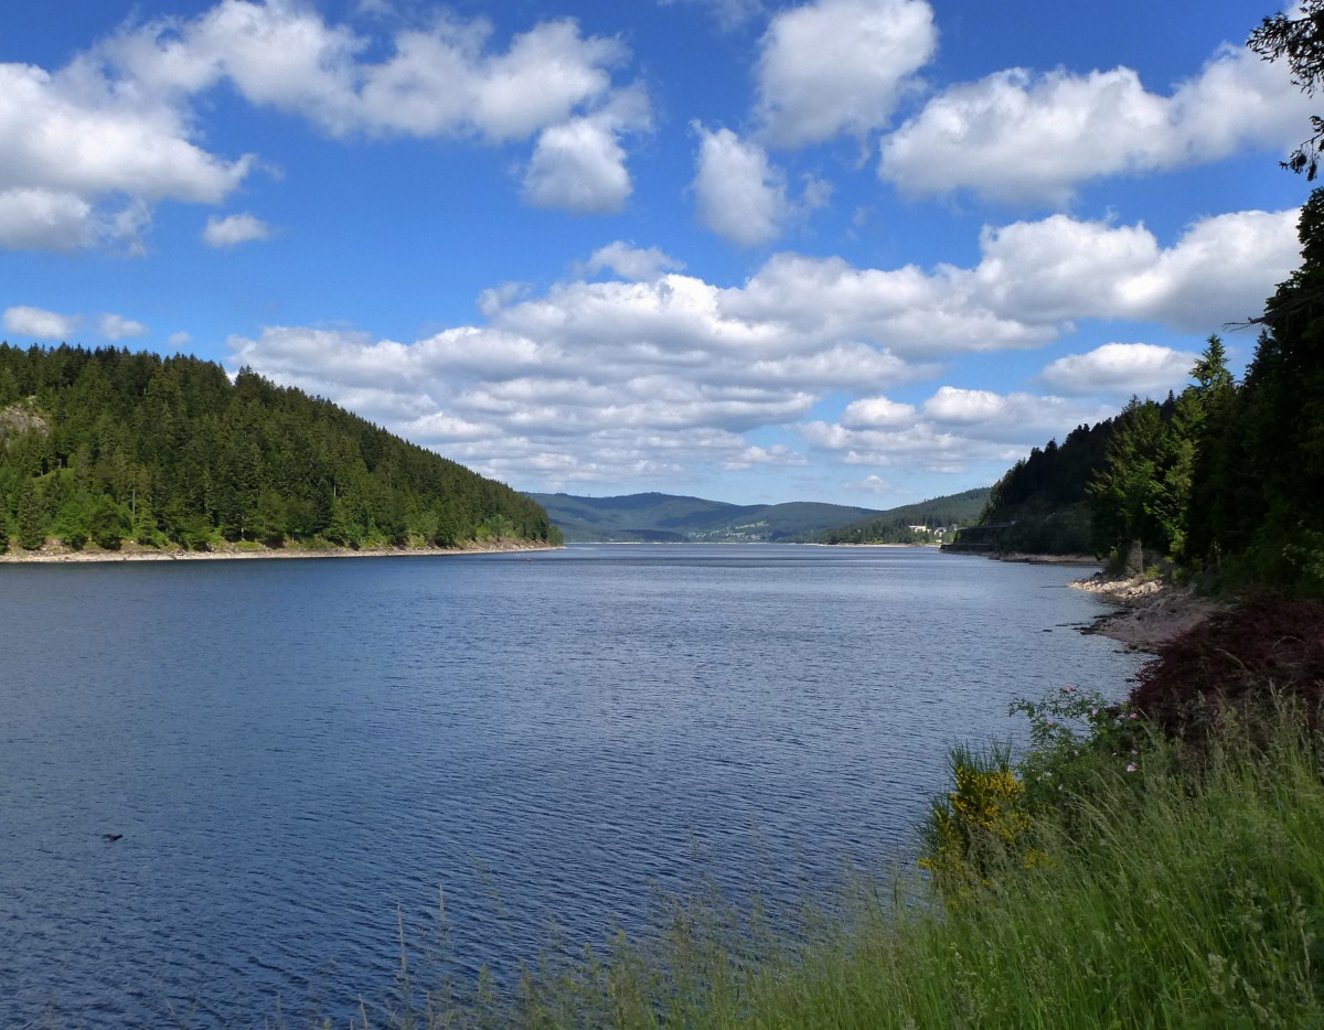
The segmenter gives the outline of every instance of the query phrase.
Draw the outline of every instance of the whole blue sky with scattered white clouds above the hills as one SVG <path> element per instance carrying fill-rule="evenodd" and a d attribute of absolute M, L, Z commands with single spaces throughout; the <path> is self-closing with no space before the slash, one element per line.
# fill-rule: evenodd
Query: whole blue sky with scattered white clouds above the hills
<path fill-rule="evenodd" d="M 1180 391 L 1299 263 L 1247 0 L 0 7 L 0 339 L 519 490 L 887 508 Z"/>

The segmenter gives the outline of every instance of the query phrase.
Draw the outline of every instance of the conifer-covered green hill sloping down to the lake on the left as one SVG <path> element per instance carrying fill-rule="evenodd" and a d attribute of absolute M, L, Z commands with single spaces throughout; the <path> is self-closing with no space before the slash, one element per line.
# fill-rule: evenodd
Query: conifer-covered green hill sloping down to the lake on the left
<path fill-rule="evenodd" d="M 510 487 L 249 369 L 0 344 L 0 548 L 559 543 Z"/>

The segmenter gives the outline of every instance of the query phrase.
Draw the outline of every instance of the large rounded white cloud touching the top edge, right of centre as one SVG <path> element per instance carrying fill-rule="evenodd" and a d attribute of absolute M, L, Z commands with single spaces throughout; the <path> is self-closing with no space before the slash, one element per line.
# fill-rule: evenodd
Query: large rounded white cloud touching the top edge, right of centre
<path fill-rule="evenodd" d="M 804 147 L 869 135 L 936 48 L 925 0 L 814 0 L 781 12 L 759 58 L 755 115 L 765 140 Z"/>

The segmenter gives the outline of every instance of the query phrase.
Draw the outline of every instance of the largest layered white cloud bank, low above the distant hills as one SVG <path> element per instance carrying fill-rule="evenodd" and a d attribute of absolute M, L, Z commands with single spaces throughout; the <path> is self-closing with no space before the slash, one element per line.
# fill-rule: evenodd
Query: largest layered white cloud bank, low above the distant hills
<path fill-rule="evenodd" d="M 969 267 L 861 269 L 784 253 L 731 286 L 614 242 L 545 290 L 485 293 L 481 324 L 413 342 L 267 327 L 230 347 L 234 367 L 520 482 L 794 465 L 798 449 L 760 449 L 744 436 L 768 426 L 843 463 L 969 471 L 1115 413 L 1095 398 L 1184 356 L 1152 360 L 1113 344 L 1062 359 L 1041 379 L 1050 396 L 949 383 L 902 402 L 898 388 L 940 381 L 953 355 L 1045 346 L 1079 319 L 1198 322 L 1205 335 L 1235 316 L 1226 312 L 1241 310 L 1241 295 L 1267 295 L 1290 270 L 1294 221 L 1295 212 L 1218 216 L 1165 245 L 1144 226 L 1053 216 L 988 229 Z M 1214 253 L 1230 271 L 1210 286 L 1198 270 Z M 601 271 L 614 277 L 593 281 Z M 816 417 L 833 395 L 849 401 L 839 418 Z"/>

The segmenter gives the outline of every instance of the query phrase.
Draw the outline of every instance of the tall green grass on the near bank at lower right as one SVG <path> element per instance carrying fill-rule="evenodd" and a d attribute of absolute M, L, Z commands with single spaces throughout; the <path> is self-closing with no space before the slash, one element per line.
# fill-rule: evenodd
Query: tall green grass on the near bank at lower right
<path fill-rule="evenodd" d="M 1324 1026 L 1324 771 L 1304 726 L 1279 707 L 1254 732 L 1229 716 L 1198 756 L 1157 736 L 1041 751 L 1031 827 L 959 891 L 857 876 L 792 935 L 704 896 L 504 993 L 410 984 L 381 1023 Z"/>

